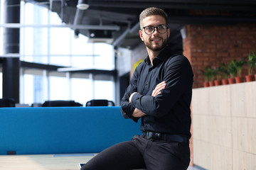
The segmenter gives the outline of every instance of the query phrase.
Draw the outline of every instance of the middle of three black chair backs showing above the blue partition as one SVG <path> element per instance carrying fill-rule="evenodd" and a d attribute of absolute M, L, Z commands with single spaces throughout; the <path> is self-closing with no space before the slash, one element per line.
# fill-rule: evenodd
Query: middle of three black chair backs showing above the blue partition
<path fill-rule="evenodd" d="M 75 101 L 45 101 L 42 104 L 42 107 L 65 107 L 65 106 L 82 106 L 82 104 Z"/>

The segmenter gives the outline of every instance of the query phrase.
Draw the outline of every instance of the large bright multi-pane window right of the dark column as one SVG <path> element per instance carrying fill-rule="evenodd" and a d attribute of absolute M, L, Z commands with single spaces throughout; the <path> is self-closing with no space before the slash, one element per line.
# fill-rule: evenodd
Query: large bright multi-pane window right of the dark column
<path fill-rule="evenodd" d="M 57 13 L 21 1 L 21 61 L 52 64 L 82 69 L 114 69 L 114 49 L 105 43 L 89 43 L 88 38 L 75 38 L 70 28 L 38 27 L 63 24 Z M 37 73 L 36 73 L 37 72 Z M 46 100 L 74 100 L 83 105 L 91 99 L 114 101 L 114 81 L 89 74 L 23 70 L 21 103 L 43 103 Z M 40 72 L 40 73 L 38 73 Z M 102 91 L 102 86 L 107 91 Z"/>

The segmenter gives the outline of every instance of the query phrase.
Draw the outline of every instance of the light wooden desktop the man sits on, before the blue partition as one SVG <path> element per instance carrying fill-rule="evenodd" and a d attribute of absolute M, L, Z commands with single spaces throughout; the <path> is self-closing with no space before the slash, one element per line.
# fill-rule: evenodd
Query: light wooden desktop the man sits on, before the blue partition
<path fill-rule="evenodd" d="M 79 170 L 95 154 L 0 155 L 0 170 Z M 122 169 L 120 169 L 122 170 Z M 188 170 L 198 170 L 189 167 Z"/>

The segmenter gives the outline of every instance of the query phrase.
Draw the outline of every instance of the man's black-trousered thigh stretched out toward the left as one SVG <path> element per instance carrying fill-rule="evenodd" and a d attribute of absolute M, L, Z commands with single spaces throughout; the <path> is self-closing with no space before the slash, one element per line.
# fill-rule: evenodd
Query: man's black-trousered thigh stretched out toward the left
<path fill-rule="evenodd" d="M 133 141 L 113 145 L 90 159 L 81 170 L 126 170 L 142 169 L 145 167 L 142 154 Z"/>

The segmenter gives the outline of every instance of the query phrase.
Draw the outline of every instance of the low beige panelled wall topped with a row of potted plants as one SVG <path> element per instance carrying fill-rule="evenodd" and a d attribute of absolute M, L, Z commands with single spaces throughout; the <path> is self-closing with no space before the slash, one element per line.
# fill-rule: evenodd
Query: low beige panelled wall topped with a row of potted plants
<path fill-rule="evenodd" d="M 193 160 L 205 169 L 256 169 L 256 81 L 193 89 Z"/>

